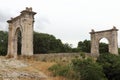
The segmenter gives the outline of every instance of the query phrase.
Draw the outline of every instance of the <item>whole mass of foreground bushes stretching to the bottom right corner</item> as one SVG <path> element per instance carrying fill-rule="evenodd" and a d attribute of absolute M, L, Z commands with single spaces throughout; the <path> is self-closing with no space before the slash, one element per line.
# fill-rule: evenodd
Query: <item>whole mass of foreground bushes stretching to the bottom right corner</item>
<path fill-rule="evenodd" d="M 76 57 L 71 63 L 55 64 L 49 68 L 54 76 L 68 80 L 119 80 L 120 56 L 104 53 L 97 60 L 90 57 Z"/>

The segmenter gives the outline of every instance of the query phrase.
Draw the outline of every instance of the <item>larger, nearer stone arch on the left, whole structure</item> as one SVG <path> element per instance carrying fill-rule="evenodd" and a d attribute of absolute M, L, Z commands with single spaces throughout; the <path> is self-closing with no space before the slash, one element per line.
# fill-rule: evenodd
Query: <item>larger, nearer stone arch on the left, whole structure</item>
<path fill-rule="evenodd" d="M 33 24 L 34 15 L 32 8 L 26 7 L 21 14 L 15 18 L 8 20 L 8 51 L 7 56 L 17 57 L 17 37 L 18 32 L 21 32 L 21 55 L 33 55 Z"/>

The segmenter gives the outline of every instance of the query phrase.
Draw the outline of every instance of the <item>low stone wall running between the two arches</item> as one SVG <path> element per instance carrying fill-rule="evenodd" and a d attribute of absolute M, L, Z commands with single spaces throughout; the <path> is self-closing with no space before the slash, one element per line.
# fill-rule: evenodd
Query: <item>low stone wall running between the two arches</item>
<path fill-rule="evenodd" d="M 75 57 L 79 57 L 80 53 L 49 53 L 49 54 L 34 54 L 35 60 L 40 61 L 70 61 Z"/>

